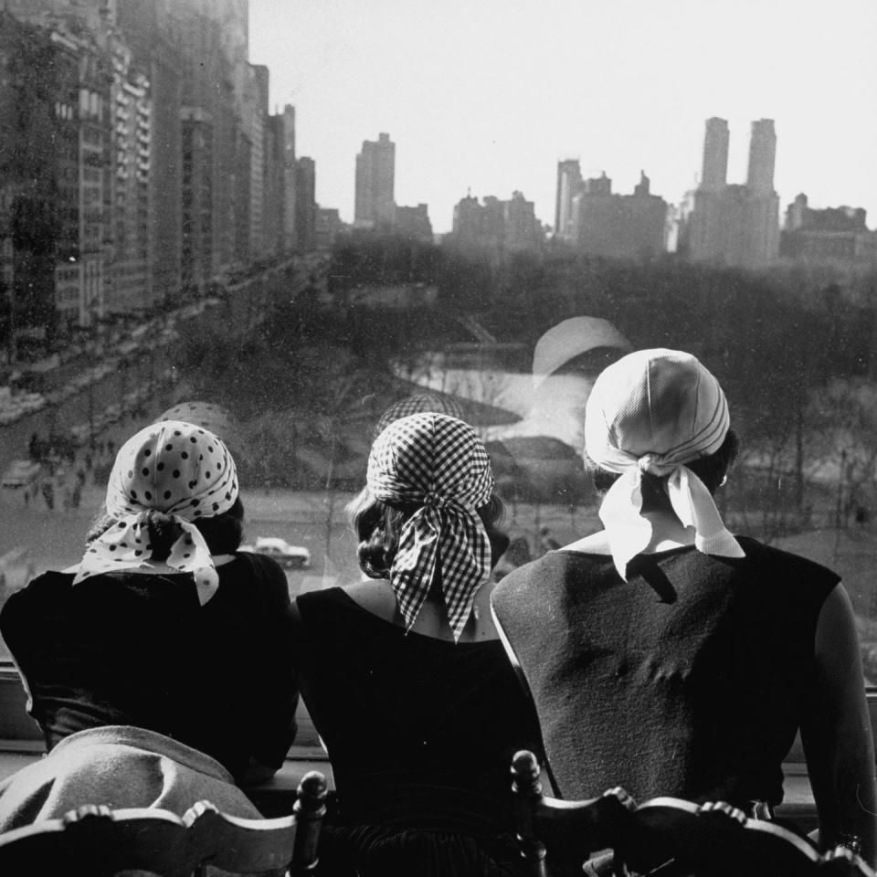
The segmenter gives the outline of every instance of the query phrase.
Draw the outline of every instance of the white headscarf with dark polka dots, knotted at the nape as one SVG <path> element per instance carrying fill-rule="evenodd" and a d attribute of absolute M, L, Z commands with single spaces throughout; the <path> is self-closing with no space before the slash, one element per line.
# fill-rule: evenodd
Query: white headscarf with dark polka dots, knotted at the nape
<path fill-rule="evenodd" d="M 199 518 L 227 512 L 238 499 L 235 462 L 221 439 L 182 420 L 165 420 L 128 439 L 107 485 L 107 512 L 117 521 L 79 564 L 77 585 L 90 576 L 146 565 L 152 556 L 149 512 L 164 512 L 182 530 L 165 563 L 193 573 L 203 606 L 219 584 Z"/>

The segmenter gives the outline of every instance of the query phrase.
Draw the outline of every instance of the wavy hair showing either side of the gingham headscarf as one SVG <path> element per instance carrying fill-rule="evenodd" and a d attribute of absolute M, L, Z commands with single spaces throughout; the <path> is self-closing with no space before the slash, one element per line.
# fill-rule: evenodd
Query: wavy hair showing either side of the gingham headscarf
<path fill-rule="evenodd" d="M 375 499 L 364 487 L 347 505 L 347 516 L 358 540 L 356 554 L 360 569 L 371 578 L 387 578 L 396 557 L 402 524 L 417 512 L 420 506 L 406 503 L 393 506 Z M 495 525 L 502 521 L 505 507 L 502 500 L 491 493 L 491 498 L 476 509 L 491 541 L 491 561 L 495 564 L 508 545 L 508 538 Z M 502 550 L 499 550 L 502 545 Z"/>

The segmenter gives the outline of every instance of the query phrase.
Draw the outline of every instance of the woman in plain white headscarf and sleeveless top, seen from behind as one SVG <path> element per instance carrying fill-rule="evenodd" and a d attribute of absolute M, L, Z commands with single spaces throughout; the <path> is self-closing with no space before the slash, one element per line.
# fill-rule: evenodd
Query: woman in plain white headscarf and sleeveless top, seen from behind
<path fill-rule="evenodd" d="M 871 725 L 849 597 L 823 566 L 728 532 L 737 439 L 690 354 L 638 351 L 587 401 L 604 529 L 503 579 L 492 608 L 542 722 L 556 791 L 783 799 L 800 729 L 822 843 L 874 861 Z"/>

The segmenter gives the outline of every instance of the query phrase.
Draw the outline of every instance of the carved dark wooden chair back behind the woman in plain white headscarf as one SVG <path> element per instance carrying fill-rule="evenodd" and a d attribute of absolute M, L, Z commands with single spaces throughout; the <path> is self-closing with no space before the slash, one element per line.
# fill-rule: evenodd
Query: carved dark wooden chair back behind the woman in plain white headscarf
<path fill-rule="evenodd" d="M 859 856 L 820 853 L 776 822 L 749 819 L 722 801 L 652 798 L 637 806 L 621 788 L 601 798 L 548 798 L 532 752 L 512 760 L 518 843 L 532 877 L 556 872 L 636 872 L 652 877 L 875 877 Z"/>

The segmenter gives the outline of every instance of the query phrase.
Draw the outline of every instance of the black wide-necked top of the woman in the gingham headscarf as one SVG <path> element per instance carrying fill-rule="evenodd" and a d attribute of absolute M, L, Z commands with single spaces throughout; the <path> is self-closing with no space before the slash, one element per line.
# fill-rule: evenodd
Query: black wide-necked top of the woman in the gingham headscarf
<path fill-rule="evenodd" d="M 344 819 L 508 829 L 509 769 L 538 728 L 499 640 L 406 633 L 340 587 L 296 599 L 296 670 Z"/>

